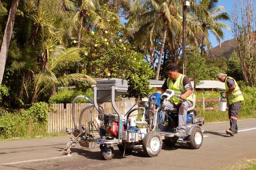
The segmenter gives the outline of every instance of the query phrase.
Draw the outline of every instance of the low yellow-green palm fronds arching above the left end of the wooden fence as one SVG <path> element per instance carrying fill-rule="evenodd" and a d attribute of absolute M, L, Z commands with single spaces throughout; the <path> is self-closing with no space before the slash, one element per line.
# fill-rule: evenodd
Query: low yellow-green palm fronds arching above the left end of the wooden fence
<path fill-rule="evenodd" d="M 45 70 L 34 75 L 31 103 L 36 101 L 39 94 L 42 92 L 52 90 L 56 86 L 68 86 L 81 78 L 86 78 L 88 82 L 95 83 L 91 77 L 84 74 L 58 74 L 58 70 L 67 67 L 69 63 L 74 63 L 79 60 L 78 56 L 81 50 L 81 48 L 69 48 L 64 50 L 60 48 L 60 46 L 56 46 L 54 50 L 48 51 L 50 57 L 48 57 Z"/>

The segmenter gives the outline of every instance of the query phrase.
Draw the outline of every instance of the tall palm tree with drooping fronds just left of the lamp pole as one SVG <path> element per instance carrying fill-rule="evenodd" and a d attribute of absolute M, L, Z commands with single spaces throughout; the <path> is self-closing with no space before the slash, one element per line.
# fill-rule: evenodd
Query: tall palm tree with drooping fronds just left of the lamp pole
<path fill-rule="evenodd" d="M 150 41 L 154 37 L 161 38 L 161 47 L 155 79 L 158 80 L 165 41 L 169 33 L 181 37 L 182 32 L 182 1 L 181 0 L 135 0 L 132 12 L 138 32 L 150 32 Z M 202 16 L 206 10 L 191 0 L 191 9 Z M 187 21 L 190 26 L 196 24 Z M 200 31 L 200 30 L 198 30 Z M 193 39 L 193 31 L 187 29 L 188 39 Z"/>

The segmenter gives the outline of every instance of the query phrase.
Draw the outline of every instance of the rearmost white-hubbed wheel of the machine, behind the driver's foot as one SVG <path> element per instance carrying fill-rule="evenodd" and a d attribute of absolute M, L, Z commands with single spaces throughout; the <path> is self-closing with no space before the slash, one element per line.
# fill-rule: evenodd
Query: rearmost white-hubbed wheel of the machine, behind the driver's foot
<path fill-rule="evenodd" d="M 198 127 L 193 129 L 191 135 L 188 136 L 188 147 L 191 149 L 199 149 L 203 144 L 203 133 Z"/>

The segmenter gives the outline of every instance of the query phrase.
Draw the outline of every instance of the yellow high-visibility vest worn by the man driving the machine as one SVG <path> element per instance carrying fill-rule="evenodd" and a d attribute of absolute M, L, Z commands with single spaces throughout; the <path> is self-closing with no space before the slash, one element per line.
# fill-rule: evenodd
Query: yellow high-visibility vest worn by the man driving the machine
<path fill-rule="evenodd" d="M 184 74 L 179 74 L 179 78 L 177 78 L 177 80 L 175 81 L 175 83 L 173 83 L 173 80 L 171 80 L 170 78 L 167 79 L 167 85 L 168 85 L 168 89 L 169 90 L 174 90 L 174 92 L 180 92 L 181 94 L 183 94 L 184 92 L 186 92 L 186 89 L 183 86 L 183 78 L 185 77 Z M 186 98 L 186 100 L 192 101 L 193 102 L 193 97 L 192 95 L 188 96 Z M 179 102 L 181 102 L 181 100 L 175 96 L 173 96 L 172 98 L 170 98 L 169 100 L 170 102 L 174 103 L 175 105 L 178 105 Z"/>

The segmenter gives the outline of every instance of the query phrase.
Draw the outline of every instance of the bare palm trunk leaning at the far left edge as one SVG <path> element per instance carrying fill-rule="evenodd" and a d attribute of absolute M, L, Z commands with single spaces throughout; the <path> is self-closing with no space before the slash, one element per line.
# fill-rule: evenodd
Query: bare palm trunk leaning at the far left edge
<path fill-rule="evenodd" d="M 15 14 L 16 14 L 18 5 L 19 5 L 19 0 L 12 1 L 11 7 L 10 7 L 10 12 L 8 15 L 8 20 L 7 20 L 6 27 L 5 27 L 5 33 L 4 33 L 1 50 L 0 50 L 0 84 L 2 84 L 2 80 L 4 77 L 5 62 L 6 62 L 7 55 L 8 55 L 8 49 L 10 46 L 10 40 L 11 40 L 11 35 L 12 35 L 13 25 L 14 25 L 14 20 L 15 20 Z"/>

